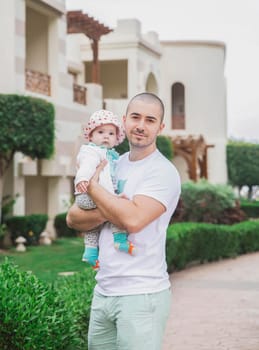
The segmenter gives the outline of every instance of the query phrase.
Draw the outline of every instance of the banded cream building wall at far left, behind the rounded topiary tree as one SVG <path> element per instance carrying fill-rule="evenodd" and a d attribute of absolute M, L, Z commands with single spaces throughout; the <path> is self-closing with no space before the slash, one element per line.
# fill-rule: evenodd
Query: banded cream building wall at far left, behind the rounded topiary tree
<path fill-rule="evenodd" d="M 40 35 L 43 35 L 39 37 L 39 33 L 29 31 L 30 43 L 40 44 L 40 47 L 34 47 L 34 52 L 26 50 L 26 6 L 31 8 L 28 15 L 36 13 L 31 19 L 33 21 L 38 18 Z M 65 0 L 1 1 L 0 19 L 0 93 L 25 94 L 53 103 L 56 130 L 55 154 L 52 159 L 41 160 L 37 166 L 37 162 L 17 153 L 8 172 L 12 183 L 8 178 L 8 186 L 5 188 L 12 191 L 8 194 L 19 194 L 14 215 L 25 215 L 32 211 L 37 213 L 42 208 L 47 208 L 50 219 L 48 230 L 54 233 L 55 215 L 65 211 L 71 200 L 71 183 L 75 174 L 75 156 L 82 142 L 82 125 L 94 110 L 101 108 L 102 87 L 97 84 L 87 86 L 87 105 L 73 101 L 73 78 L 68 74 L 66 56 Z M 45 29 L 41 23 L 44 23 Z M 26 90 L 26 62 L 31 69 L 50 75 L 51 96 Z M 40 203 L 38 207 L 32 207 L 26 202 L 31 200 L 31 203 L 38 203 L 37 194 L 32 197 L 35 183 L 48 189 L 38 199 L 45 204 Z M 26 195 L 30 198 L 26 198 Z"/>

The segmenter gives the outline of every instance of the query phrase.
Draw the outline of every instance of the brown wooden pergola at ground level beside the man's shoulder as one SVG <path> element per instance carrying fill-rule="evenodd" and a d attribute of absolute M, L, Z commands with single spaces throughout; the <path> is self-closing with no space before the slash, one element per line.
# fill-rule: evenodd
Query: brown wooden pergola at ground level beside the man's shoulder
<path fill-rule="evenodd" d="M 208 179 L 208 148 L 202 135 L 171 136 L 174 154 L 183 157 L 188 166 L 189 178 L 197 181 Z"/>

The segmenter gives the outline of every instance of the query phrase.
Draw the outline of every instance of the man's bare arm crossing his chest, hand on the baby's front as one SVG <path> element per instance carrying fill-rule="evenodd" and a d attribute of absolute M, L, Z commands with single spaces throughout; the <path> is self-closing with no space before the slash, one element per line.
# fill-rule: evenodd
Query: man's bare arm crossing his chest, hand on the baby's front
<path fill-rule="evenodd" d="M 95 176 L 89 182 L 88 193 L 103 217 L 130 233 L 139 232 L 166 210 L 162 203 L 148 196 L 136 195 L 128 200 L 113 195 L 99 185 Z"/>

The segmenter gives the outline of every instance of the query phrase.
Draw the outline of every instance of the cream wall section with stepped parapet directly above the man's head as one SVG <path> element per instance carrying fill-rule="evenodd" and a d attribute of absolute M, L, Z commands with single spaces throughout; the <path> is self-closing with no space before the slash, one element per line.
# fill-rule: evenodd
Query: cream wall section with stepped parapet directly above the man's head
<path fill-rule="evenodd" d="M 69 35 L 69 47 L 74 47 L 80 40 Z M 89 40 L 81 37 L 81 59 L 83 62 L 92 60 Z M 141 32 L 141 23 L 136 19 L 119 20 L 113 32 L 101 37 L 99 42 L 99 60 L 127 60 L 128 62 L 128 99 L 146 88 L 150 73 L 153 73 L 159 84 L 161 47 L 156 33 Z M 71 56 L 69 56 L 71 57 Z M 78 54 L 77 54 L 78 57 Z M 118 115 L 125 112 L 128 99 L 105 99 L 107 108 L 113 108 Z"/>

